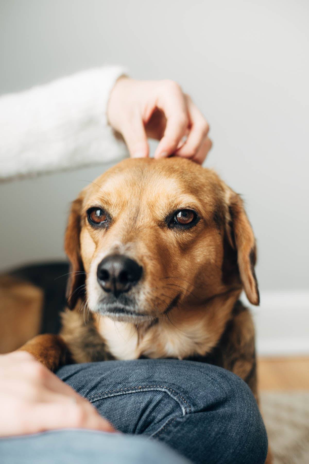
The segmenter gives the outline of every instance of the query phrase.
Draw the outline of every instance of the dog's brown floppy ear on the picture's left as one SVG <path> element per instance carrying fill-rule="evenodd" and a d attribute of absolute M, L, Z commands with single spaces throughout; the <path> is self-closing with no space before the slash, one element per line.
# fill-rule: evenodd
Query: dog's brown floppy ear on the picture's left
<path fill-rule="evenodd" d="M 70 261 L 70 274 L 66 292 L 69 309 L 74 309 L 78 298 L 81 296 L 81 293 L 83 293 L 83 285 L 85 283 L 85 273 L 80 247 L 81 208 L 82 198 L 80 197 L 71 204 L 64 238 L 64 250 Z"/>

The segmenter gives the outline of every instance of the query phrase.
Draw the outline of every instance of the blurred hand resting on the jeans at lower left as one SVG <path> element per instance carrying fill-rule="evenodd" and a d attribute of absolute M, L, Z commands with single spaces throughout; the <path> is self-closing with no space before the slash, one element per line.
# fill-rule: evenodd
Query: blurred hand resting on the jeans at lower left
<path fill-rule="evenodd" d="M 0 355 L 0 437 L 61 428 L 115 432 L 73 388 L 25 351 Z"/>

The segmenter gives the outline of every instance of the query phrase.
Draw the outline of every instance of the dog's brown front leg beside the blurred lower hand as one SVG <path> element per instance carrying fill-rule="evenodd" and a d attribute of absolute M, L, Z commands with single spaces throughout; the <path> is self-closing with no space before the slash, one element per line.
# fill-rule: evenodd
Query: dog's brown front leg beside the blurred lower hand
<path fill-rule="evenodd" d="M 69 349 L 60 335 L 37 335 L 17 351 L 27 351 L 51 371 L 70 362 Z"/>

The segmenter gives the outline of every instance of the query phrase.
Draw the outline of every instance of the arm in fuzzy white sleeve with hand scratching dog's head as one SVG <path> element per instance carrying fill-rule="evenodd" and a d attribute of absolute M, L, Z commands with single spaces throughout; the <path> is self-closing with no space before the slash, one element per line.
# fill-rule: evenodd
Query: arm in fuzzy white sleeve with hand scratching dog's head
<path fill-rule="evenodd" d="M 0 97 L 0 180 L 149 156 L 202 164 L 208 122 L 173 81 L 138 81 L 120 67 L 83 71 Z M 117 131 L 124 138 L 115 136 Z"/>

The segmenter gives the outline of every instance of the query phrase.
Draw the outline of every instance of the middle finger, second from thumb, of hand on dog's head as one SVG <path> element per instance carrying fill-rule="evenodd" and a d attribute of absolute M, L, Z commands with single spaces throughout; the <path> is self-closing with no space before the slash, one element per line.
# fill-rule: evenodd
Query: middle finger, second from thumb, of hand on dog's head
<path fill-rule="evenodd" d="M 184 158 L 193 158 L 197 155 L 208 135 L 209 125 L 201 111 L 195 106 L 189 96 L 187 98 L 190 131 L 188 138 L 181 148 L 177 149 L 176 155 Z"/>

